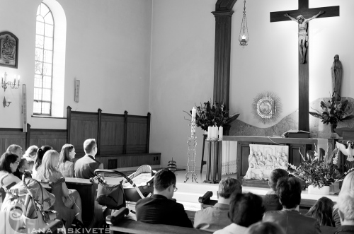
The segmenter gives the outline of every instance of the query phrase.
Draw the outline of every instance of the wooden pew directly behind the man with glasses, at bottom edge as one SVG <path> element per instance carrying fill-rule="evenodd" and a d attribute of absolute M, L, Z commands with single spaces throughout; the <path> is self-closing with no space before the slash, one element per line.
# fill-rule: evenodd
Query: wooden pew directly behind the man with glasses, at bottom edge
<path fill-rule="evenodd" d="M 115 211 L 113 216 L 107 216 L 106 223 L 110 225 L 111 234 L 118 233 L 135 233 L 135 234 L 207 234 L 209 232 L 194 228 L 184 228 L 165 224 L 151 224 L 134 221 L 125 218 L 129 210 L 121 208 Z M 210 234 L 210 233 L 209 233 Z"/>

